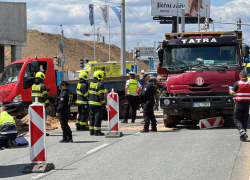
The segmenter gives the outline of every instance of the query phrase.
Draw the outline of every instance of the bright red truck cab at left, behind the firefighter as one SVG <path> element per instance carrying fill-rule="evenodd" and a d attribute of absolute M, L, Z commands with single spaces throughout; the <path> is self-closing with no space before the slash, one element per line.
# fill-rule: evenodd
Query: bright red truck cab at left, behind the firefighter
<path fill-rule="evenodd" d="M 28 58 L 10 63 L 0 78 L 0 103 L 14 116 L 26 115 L 32 103 L 31 86 L 35 73 L 44 72 L 44 84 L 53 103 L 57 98 L 56 73 L 51 57 Z M 52 112 L 55 108 L 52 105 Z"/>

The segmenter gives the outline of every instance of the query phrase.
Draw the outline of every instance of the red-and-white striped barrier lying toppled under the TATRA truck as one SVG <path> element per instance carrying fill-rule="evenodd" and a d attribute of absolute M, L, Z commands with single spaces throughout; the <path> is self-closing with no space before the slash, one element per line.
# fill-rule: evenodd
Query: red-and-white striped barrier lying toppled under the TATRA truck
<path fill-rule="evenodd" d="M 208 119 L 201 119 L 197 126 L 199 126 L 200 129 L 211 129 L 216 127 L 221 127 L 223 126 L 223 123 L 224 120 L 222 117 L 214 117 Z"/>

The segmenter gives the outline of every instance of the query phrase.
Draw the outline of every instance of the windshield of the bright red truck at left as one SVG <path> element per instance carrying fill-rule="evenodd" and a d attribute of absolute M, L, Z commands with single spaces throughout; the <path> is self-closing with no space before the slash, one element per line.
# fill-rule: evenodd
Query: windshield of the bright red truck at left
<path fill-rule="evenodd" d="M 7 66 L 0 78 L 0 85 L 17 82 L 23 63 Z"/>

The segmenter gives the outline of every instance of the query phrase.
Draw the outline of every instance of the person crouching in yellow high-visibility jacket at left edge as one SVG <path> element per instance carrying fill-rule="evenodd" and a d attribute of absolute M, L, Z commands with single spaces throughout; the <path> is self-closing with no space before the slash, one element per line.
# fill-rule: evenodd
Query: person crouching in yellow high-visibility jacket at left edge
<path fill-rule="evenodd" d="M 1 107 L 0 117 L 0 148 L 11 148 L 11 141 L 17 137 L 16 122 L 12 116 L 10 116 L 5 107 Z"/>

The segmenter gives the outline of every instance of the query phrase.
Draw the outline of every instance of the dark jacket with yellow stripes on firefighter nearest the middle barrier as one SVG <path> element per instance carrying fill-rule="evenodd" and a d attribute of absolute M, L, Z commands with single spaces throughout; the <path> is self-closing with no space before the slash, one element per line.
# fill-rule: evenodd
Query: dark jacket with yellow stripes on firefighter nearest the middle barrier
<path fill-rule="evenodd" d="M 89 106 L 104 106 L 104 87 L 101 82 L 94 79 L 89 85 Z"/>

